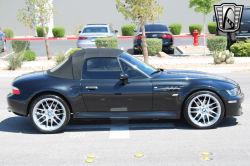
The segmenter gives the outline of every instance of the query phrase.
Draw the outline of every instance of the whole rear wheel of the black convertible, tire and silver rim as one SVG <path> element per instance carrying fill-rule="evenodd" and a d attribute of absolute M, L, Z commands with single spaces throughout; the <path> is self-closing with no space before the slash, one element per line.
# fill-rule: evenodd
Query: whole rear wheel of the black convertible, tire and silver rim
<path fill-rule="evenodd" d="M 57 133 L 68 124 L 70 109 L 59 96 L 43 95 L 32 102 L 30 120 L 32 125 L 42 133 Z"/>

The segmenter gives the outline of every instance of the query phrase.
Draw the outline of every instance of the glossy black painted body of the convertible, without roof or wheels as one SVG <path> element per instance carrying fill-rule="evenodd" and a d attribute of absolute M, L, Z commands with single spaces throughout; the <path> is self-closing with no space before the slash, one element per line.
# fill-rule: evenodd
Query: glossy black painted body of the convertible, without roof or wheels
<path fill-rule="evenodd" d="M 189 95 L 198 90 L 212 91 L 220 96 L 226 108 L 225 116 L 242 114 L 244 95 L 230 96 L 226 90 L 239 86 L 222 76 L 196 71 L 166 70 L 152 78 L 129 79 L 130 84 L 114 80 L 76 80 L 33 72 L 17 77 L 13 86 L 21 94 L 7 96 L 10 109 L 20 115 L 29 114 L 36 96 L 54 93 L 66 100 L 74 118 L 180 118 L 182 106 Z M 86 86 L 97 86 L 88 90 Z M 175 86 L 179 89 L 164 90 Z M 157 88 L 155 88 L 157 87 Z M 237 100 L 237 103 L 228 103 Z"/>

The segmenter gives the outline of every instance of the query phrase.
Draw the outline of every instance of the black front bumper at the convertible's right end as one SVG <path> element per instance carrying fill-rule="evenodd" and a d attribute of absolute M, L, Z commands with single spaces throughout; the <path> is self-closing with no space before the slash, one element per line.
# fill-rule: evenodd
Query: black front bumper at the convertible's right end
<path fill-rule="evenodd" d="M 241 116 L 243 114 L 242 111 L 242 103 L 244 101 L 244 94 L 241 93 L 238 96 L 233 96 L 230 100 L 225 100 L 226 107 L 226 117 L 231 116 Z"/>

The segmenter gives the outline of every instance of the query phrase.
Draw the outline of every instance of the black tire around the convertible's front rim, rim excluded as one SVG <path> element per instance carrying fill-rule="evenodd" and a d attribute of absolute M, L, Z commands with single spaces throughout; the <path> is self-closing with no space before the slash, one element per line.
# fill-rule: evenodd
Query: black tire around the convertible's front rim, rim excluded
<path fill-rule="evenodd" d="M 221 114 L 220 114 L 220 117 L 219 117 L 219 119 L 217 120 L 217 122 L 215 122 L 215 123 L 214 123 L 213 125 L 211 125 L 211 126 L 202 127 L 202 126 L 198 126 L 198 125 L 194 124 L 194 123 L 192 122 L 192 120 L 190 119 L 189 114 L 188 114 L 188 106 L 189 106 L 190 102 L 192 101 L 192 99 L 193 99 L 194 97 L 196 97 L 196 96 L 198 96 L 198 95 L 201 95 L 201 94 L 209 94 L 209 95 L 212 95 L 213 97 L 215 97 L 215 98 L 219 101 L 220 106 L 221 106 Z M 185 117 L 186 121 L 187 121 L 191 126 L 197 128 L 197 129 L 210 129 L 210 128 L 215 128 L 215 127 L 221 122 L 221 120 L 222 120 L 223 117 L 224 117 L 225 107 L 224 107 L 224 103 L 222 102 L 221 98 L 220 98 L 217 94 L 215 94 L 215 93 L 213 93 L 213 92 L 211 92 L 211 91 L 199 91 L 199 92 L 195 92 L 195 93 L 192 94 L 190 97 L 188 97 L 188 99 L 187 99 L 186 102 L 185 102 L 185 106 L 184 106 L 183 113 L 184 113 L 184 117 Z"/>

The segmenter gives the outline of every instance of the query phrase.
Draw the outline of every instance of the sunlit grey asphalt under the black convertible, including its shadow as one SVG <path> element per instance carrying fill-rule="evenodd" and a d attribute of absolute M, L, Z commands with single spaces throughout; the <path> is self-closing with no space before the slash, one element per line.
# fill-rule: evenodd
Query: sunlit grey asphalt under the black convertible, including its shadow
<path fill-rule="evenodd" d="M 64 41 L 65 42 L 65 41 Z M 77 120 L 59 134 L 41 134 L 27 117 L 7 112 L 14 78 L 0 78 L 0 165 L 250 165 L 249 73 L 221 74 L 245 93 L 244 114 L 210 130 L 185 120 Z M 210 155 L 202 156 L 202 152 Z M 135 154 L 143 154 L 136 158 Z M 95 155 L 86 163 L 87 155 Z M 203 157 L 211 160 L 204 161 Z"/>

